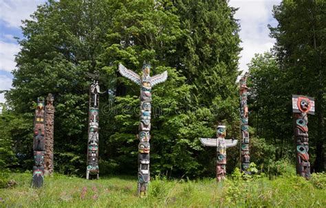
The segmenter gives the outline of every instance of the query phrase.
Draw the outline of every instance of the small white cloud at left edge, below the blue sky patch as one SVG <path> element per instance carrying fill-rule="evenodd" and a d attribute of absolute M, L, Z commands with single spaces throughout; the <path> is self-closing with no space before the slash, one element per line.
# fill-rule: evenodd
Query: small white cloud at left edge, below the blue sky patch
<path fill-rule="evenodd" d="M 0 70 L 12 71 L 16 66 L 14 55 L 19 52 L 20 46 L 16 43 L 0 41 Z"/>

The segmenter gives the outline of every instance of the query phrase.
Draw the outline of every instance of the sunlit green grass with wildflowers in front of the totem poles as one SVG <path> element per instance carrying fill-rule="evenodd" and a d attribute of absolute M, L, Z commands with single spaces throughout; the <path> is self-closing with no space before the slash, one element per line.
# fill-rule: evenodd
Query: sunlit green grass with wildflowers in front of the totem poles
<path fill-rule="evenodd" d="M 324 181 L 298 176 L 223 183 L 152 179 L 149 196 L 138 198 L 136 177 L 87 181 L 54 174 L 34 189 L 31 174 L 15 173 L 10 179 L 17 186 L 0 189 L 0 207 L 326 207 L 326 174 L 319 177 Z"/>

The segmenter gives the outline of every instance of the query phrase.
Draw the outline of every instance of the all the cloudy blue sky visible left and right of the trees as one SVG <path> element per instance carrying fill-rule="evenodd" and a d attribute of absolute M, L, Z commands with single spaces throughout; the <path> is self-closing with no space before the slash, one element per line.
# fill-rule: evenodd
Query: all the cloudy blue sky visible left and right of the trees
<path fill-rule="evenodd" d="M 19 45 L 14 37 L 23 38 L 21 20 L 30 19 L 37 5 L 45 0 L 0 0 L 0 91 L 12 88 L 11 71 L 15 68 L 14 55 Z M 275 40 L 269 37 L 267 25 L 277 25 L 272 16 L 273 5 L 281 0 L 230 0 L 230 5 L 239 10 L 235 18 L 241 25 L 241 58 L 239 70 L 248 70 L 247 64 L 254 54 L 268 51 Z M 0 103 L 5 102 L 0 94 Z"/>

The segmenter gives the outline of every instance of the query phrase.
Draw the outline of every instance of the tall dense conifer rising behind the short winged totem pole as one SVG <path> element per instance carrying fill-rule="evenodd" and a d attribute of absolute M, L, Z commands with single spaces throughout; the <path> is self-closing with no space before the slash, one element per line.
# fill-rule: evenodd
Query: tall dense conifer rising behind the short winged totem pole
<path fill-rule="evenodd" d="M 175 0 L 173 5 L 183 31 L 173 65 L 191 85 L 191 99 L 186 103 L 191 109 L 191 125 L 182 128 L 186 132 L 184 137 L 190 141 L 215 137 L 221 122 L 227 126 L 228 137 L 239 138 L 239 95 L 235 82 L 241 48 L 239 25 L 234 19 L 236 9 L 226 1 Z M 197 148 L 201 150 L 195 154 L 203 164 L 203 172 L 214 173 L 215 161 L 211 158 L 215 157 L 215 150 L 200 144 Z M 228 167 L 235 166 L 237 154 L 237 148 L 228 150 Z"/>

